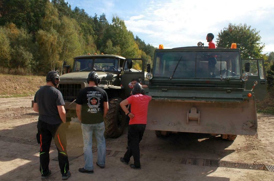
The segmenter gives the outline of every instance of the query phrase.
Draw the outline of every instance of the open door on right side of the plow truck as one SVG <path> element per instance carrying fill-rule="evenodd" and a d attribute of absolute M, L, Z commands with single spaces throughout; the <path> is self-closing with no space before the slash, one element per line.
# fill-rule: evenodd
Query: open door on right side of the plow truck
<path fill-rule="evenodd" d="M 245 63 L 250 62 L 249 72 L 245 72 Z M 242 59 L 243 73 L 248 74 L 248 81 L 245 82 L 245 89 L 251 90 L 254 81 L 258 84 L 253 89 L 256 100 L 263 100 L 266 96 L 267 81 L 265 77 L 265 68 L 262 59 Z"/>

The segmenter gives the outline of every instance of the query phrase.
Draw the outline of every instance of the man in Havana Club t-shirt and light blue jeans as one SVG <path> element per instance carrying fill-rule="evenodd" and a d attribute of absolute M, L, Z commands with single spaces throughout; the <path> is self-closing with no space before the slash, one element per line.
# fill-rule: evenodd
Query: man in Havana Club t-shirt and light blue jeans
<path fill-rule="evenodd" d="M 86 79 L 88 87 L 80 90 L 76 99 L 76 114 L 82 123 L 84 141 L 85 166 L 79 172 L 93 173 L 92 133 L 97 140 L 98 158 L 96 165 L 105 167 L 106 142 L 104 138 L 104 118 L 108 112 L 108 95 L 106 91 L 97 87 L 100 79 L 96 72 L 90 72 Z"/>

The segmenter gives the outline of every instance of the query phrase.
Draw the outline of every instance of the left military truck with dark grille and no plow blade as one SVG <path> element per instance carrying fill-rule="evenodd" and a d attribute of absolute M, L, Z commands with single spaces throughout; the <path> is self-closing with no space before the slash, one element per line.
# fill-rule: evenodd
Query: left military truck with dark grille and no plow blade
<path fill-rule="evenodd" d="M 134 69 L 134 67 L 138 67 L 138 69 Z M 65 69 L 70 70 L 70 73 L 60 76 L 58 87 L 65 100 L 67 121 L 77 117 L 74 101 L 80 89 L 88 86 L 86 78 L 90 71 L 96 71 L 100 78 L 99 87 L 108 94 L 109 111 L 104 120 L 105 133 L 109 137 L 120 136 L 126 124 L 126 115 L 119 104 L 130 95 L 131 79 L 138 78 L 141 82 L 145 82 L 144 68 L 144 60 L 140 58 L 126 59 L 118 55 L 75 57 L 71 69 L 65 65 Z"/>

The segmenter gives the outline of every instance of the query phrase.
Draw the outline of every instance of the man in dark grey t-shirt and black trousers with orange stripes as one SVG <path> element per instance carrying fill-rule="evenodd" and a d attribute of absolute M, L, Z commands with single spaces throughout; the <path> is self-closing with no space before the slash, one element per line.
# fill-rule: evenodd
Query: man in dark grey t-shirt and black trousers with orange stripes
<path fill-rule="evenodd" d="M 67 141 L 64 125 L 66 122 L 65 102 L 61 92 L 56 89 L 59 84 L 59 73 L 50 71 L 46 77 L 47 84 L 41 87 L 34 96 L 33 110 L 39 112 L 37 123 L 37 141 L 40 144 L 40 172 L 41 179 L 47 179 L 49 170 L 49 149 L 54 139 L 58 150 L 58 161 L 62 180 L 70 177 Z"/>

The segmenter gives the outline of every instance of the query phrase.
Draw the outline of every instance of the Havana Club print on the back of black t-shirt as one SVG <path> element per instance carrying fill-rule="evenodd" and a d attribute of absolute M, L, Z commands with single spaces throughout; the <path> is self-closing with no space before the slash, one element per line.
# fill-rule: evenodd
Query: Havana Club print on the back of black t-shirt
<path fill-rule="evenodd" d="M 98 91 L 89 91 L 86 94 L 86 97 L 88 99 L 88 108 L 87 112 L 89 113 L 97 113 L 100 111 L 100 98 L 101 98 L 101 92 Z"/>

